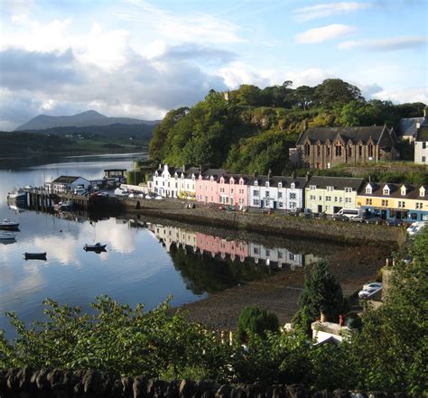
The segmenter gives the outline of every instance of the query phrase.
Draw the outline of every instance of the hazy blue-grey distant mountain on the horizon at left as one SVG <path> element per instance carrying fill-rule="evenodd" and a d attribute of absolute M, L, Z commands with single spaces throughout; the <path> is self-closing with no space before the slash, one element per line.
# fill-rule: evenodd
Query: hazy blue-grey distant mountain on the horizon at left
<path fill-rule="evenodd" d="M 20 125 L 15 131 L 34 131 L 56 127 L 85 127 L 94 125 L 157 125 L 159 121 L 132 119 L 130 117 L 107 117 L 89 110 L 73 116 L 35 116 L 32 120 Z"/>

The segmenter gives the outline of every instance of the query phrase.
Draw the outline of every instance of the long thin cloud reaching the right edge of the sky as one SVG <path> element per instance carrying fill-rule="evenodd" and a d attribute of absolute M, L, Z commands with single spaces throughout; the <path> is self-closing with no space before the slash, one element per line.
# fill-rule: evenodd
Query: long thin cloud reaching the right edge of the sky
<path fill-rule="evenodd" d="M 361 47 L 369 51 L 399 51 L 422 47 L 426 44 L 425 36 L 400 36 L 380 40 L 360 40 L 341 42 L 338 45 L 340 50 L 349 50 Z"/>

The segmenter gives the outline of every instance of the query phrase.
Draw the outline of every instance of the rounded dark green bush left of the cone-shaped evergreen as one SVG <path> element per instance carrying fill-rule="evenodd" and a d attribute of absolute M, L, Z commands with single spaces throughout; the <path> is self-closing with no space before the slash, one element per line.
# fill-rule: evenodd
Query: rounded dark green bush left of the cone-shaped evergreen
<path fill-rule="evenodd" d="M 278 317 L 272 311 L 248 306 L 241 311 L 239 319 L 237 319 L 237 328 L 237 336 L 240 341 L 247 341 L 248 332 L 265 338 L 266 330 L 278 331 Z"/>

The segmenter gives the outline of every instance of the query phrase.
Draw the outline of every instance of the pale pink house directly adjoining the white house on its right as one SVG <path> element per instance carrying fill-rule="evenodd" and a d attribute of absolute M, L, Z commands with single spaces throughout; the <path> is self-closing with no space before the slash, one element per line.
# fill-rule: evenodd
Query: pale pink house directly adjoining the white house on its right
<path fill-rule="evenodd" d="M 219 178 L 219 203 L 237 207 L 248 206 L 248 177 L 223 175 Z"/>

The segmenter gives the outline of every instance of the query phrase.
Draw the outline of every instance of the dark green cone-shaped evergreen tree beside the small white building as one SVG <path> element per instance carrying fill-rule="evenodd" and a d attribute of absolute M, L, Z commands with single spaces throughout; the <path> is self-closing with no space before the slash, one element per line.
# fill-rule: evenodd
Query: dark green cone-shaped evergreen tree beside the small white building
<path fill-rule="evenodd" d="M 324 310 L 327 319 L 338 320 L 344 309 L 343 294 L 340 284 L 330 273 L 329 264 L 321 260 L 313 264 L 311 272 L 306 276 L 302 293 L 299 297 L 301 308 L 297 319 L 306 315 L 307 322 L 313 322 Z M 302 325 L 307 328 L 308 325 Z"/>

